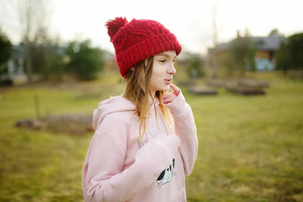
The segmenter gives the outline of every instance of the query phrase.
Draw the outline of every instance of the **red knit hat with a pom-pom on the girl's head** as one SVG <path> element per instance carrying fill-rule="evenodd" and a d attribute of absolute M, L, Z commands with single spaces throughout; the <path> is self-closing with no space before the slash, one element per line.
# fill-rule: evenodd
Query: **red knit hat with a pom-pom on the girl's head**
<path fill-rule="evenodd" d="M 181 53 L 176 36 L 154 20 L 136 20 L 116 17 L 105 24 L 115 47 L 117 65 L 124 78 L 137 63 L 166 51 Z"/>

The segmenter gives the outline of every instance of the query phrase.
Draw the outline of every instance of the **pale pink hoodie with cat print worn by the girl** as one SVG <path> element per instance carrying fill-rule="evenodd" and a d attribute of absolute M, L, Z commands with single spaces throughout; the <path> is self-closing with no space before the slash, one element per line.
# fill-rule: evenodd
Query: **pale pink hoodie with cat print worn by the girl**
<path fill-rule="evenodd" d="M 185 175 L 192 172 L 198 141 L 192 111 L 180 91 L 165 105 L 170 132 L 155 98 L 142 141 L 135 106 L 115 96 L 93 112 L 95 134 L 82 170 L 85 201 L 186 201 Z"/>

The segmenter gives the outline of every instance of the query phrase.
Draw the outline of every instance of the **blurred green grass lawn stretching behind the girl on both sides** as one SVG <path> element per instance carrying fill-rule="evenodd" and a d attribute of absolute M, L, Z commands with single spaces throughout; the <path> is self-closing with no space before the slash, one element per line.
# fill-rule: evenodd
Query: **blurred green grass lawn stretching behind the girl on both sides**
<path fill-rule="evenodd" d="M 199 150 L 186 178 L 188 201 L 303 201 L 303 82 L 258 74 L 270 82 L 265 96 L 196 96 L 183 88 L 197 126 Z M 119 79 L 118 79 L 119 80 Z M 0 201 L 83 201 L 81 169 L 93 134 L 52 134 L 15 128 L 40 113 L 92 114 L 123 85 L 106 81 L 68 89 L 41 85 L 2 92 Z M 85 91 L 99 98 L 75 99 Z"/>

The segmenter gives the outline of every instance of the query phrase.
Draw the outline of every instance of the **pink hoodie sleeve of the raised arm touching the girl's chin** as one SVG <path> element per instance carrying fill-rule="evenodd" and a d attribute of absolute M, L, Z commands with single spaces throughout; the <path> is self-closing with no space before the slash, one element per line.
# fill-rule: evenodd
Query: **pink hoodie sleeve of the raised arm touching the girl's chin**
<path fill-rule="evenodd" d="M 197 131 L 190 106 L 180 90 L 177 98 L 166 106 L 173 117 L 175 133 L 180 138 L 179 150 L 183 158 L 185 175 L 190 175 L 197 158 Z"/>

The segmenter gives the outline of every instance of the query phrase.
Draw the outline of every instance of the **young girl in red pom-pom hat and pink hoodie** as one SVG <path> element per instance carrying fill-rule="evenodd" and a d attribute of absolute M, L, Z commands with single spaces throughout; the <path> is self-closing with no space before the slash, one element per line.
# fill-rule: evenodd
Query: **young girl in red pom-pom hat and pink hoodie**
<path fill-rule="evenodd" d="M 198 141 L 192 111 L 172 84 L 181 45 L 153 20 L 119 17 L 106 26 L 126 90 L 93 112 L 84 199 L 186 201 L 185 176 L 192 172 Z"/>

